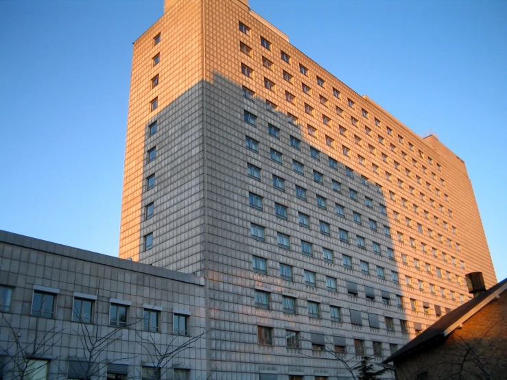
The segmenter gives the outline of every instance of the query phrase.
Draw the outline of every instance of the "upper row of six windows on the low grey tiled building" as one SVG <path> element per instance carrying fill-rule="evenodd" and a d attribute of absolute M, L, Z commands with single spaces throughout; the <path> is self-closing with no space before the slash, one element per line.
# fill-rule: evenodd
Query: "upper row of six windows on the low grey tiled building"
<path fill-rule="evenodd" d="M 0 311 L 10 312 L 12 304 L 12 292 L 14 288 L 0 285 Z M 58 300 L 58 289 L 56 292 L 43 292 L 34 290 L 32 297 L 32 308 L 30 315 L 34 317 L 55 318 L 56 305 Z M 73 298 L 72 318 L 73 322 L 82 322 L 94 324 L 94 316 L 96 316 L 96 303 L 94 296 L 90 298 L 77 297 Z M 119 303 L 110 302 L 109 305 L 109 325 L 119 328 L 133 326 L 140 322 L 130 318 L 131 307 Z M 188 334 L 188 318 L 189 316 L 173 313 L 173 333 L 175 335 Z M 143 309 L 143 330 L 158 332 L 160 331 L 161 311 L 156 309 Z"/>

